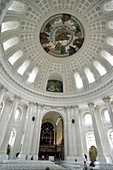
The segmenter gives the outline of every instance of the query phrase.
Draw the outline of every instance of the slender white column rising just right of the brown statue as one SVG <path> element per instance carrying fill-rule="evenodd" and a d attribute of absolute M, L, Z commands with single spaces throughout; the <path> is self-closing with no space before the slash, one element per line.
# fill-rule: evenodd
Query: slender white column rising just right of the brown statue
<path fill-rule="evenodd" d="M 101 143 L 100 135 L 99 135 L 99 131 L 98 131 L 98 125 L 97 125 L 96 117 L 95 117 L 94 103 L 89 103 L 88 106 L 90 109 L 90 113 L 92 115 L 92 124 L 93 124 L 96 145 L 97 145 L 97 154 L 98 154 L 97 160 L 105 161 L 105 157 L 103 155 L 102 143 Z"/>

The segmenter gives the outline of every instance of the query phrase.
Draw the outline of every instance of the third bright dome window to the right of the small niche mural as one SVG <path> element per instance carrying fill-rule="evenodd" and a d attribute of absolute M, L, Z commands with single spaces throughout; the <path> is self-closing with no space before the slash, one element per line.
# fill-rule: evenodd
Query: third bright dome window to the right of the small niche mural
<path fill-rule="evenodd" d="M 98 61 L 94 61 L 94 66 L 96 67 L 101 76 L 106 74 L 106 69 Z"/>

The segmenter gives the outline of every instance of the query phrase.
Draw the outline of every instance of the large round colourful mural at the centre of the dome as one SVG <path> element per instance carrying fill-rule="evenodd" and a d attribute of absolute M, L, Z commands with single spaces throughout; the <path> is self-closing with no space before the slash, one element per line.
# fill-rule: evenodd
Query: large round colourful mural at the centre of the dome
<path fill-rule="evenodd" d="M 70 14 L 55 15 L 40 32 L 43 49 L 56 57 L 75 54 L 84 42 L 83 30 Z"/>

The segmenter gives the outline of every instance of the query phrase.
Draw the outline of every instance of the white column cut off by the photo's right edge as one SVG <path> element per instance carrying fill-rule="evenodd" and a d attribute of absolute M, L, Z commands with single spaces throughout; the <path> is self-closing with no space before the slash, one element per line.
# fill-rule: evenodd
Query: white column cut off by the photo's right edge
<path fill-rule="evenodd" d="M 107 110 L 109 112 L 110 121 L 111 121 L 111 124 L 112 124 L 112 127 L 113 127 L 113 112 L 112 112 L 112 106 L 111 106 L 111 103 L 110 103 L 110 98 L 109 97 L 105 97 L 103 99 L 103 101 L 106 104 L 106 108 L 107 108 Z"/>

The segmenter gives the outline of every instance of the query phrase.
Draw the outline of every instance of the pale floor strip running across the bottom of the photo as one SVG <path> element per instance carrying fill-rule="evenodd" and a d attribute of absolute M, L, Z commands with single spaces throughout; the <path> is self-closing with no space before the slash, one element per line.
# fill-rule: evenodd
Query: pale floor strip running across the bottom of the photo
<path fill-rule="evenodd" d="M 49 167 L 50 170 L 83 170 L 83 163 L 70 161 L 35 161 L 35 160 L 4 160 L 0 162 L 0 170 L 45 170 Z M 89 162 L 87 169 L 90 170 Z M 96 162 L 93 170 L 113 170 L 113 164 Z"/>

